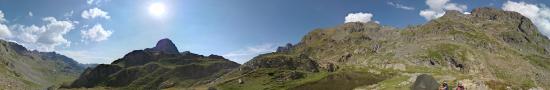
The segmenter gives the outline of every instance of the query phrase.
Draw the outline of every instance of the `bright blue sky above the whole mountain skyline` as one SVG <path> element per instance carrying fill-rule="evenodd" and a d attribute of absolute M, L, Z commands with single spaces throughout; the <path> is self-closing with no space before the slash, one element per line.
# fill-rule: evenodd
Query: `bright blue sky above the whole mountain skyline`
<path fill-rule="evenodd" d="M 151 13 L 153 3 L 160 3 L 165 12 Z M 442 10 L 469 12 L 475 7 L 504 9 L 504 5 L 509 5 L 526 7 L 507 10 L 532 15 L 530 18 L 539 22 L 536 23 L 539 29 L 550 31 L 547 24 L 550 10 L 546 7 L 549 3 L 548 0 L 0 0 L 3 14 L 0 38 L 34 50 L 59 52 L 81 63 L 110 63 L 132 50 L 153 47 L 157 40 L 170 38 L 180 51 L 223 55 L 243 63 L 277 46 L 295 44 L 313 29 L 343 24 L 348 15 L 355 21 L 377 21 L 401 28 L 437 18 Z M 530 10 L 533 6 L 537 9 Z M 421 14 L 423 11 L 426 13 Z"/>

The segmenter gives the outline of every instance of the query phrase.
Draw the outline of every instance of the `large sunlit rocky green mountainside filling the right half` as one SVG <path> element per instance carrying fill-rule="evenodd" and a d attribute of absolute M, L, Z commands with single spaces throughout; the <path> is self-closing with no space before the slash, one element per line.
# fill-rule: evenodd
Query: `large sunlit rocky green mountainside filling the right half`
<path fill-rule="evenodd" d="M 316 29 L 297 45 L 257 56 L 217 89 L 411 89 L 432 75 L 467 89 L 550 89 L 550 40 L 516 12 L 447 11 L 403 29 L 346 23 Z M 335 88 L 334 88 L 335 89 Z"/>

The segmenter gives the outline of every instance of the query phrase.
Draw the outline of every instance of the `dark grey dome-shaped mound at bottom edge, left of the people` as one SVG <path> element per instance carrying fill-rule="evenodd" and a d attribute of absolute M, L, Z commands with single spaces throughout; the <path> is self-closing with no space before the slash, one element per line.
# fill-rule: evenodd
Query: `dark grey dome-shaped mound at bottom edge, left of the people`
<path fill-rule="evenodd" d="M 439 83 L 431 75 L 422 74 L 416 77 L 411 90 L 438 90 L 438 88 Z"/>

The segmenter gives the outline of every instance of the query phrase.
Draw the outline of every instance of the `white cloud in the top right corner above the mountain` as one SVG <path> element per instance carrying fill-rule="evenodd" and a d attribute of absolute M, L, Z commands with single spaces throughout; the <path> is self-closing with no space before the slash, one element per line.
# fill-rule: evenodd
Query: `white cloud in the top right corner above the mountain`
<path fill-rule="evenodd" d="M 550 37 L 550 8 L 545 5 L 508 1 L 502 5 L 502 9 L 518 12 L 531 19 L 542 34 Z"/>

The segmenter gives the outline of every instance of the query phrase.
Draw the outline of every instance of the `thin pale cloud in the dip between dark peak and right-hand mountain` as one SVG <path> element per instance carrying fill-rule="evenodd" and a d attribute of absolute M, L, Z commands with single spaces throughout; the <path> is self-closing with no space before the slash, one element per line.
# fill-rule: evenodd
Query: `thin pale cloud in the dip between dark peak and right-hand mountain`
<path fill-rule="evenodd" d="M 245 63 L 248 60 L 258 56 L 259 54 L 274 52 L 278 47 L 278 44 L 261 44 L 257 46 L 246 47 L 245 49 L 232 51 L 222 56 L 233 60 L 237 63 Z"/>

